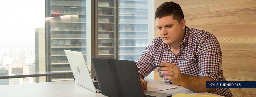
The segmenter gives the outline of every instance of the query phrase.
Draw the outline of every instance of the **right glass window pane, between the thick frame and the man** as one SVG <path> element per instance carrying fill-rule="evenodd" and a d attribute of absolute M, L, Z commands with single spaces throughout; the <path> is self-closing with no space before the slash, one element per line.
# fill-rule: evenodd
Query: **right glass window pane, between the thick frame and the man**
<path fill-rule="evenodd" d="M 122 59 L 137 61 L 148 46 L 148 0 L 123 1 L 123 0 L 99 0 L 100 6 L 111 3 L 111 8 L 100 7 L 99 11 L 110 10 L 117 12 L 106 21 L 107 17 L 102 17 L 98 12 L 98 46 L 100 58 Z M 106 5 L 104 3 L 108 2 Z M 103 12 L 102 12 L 103 13 Z M 113 36 L 104 39 L 104 36 Z M 109 53 L 112 52 L 112 53 Z"/>

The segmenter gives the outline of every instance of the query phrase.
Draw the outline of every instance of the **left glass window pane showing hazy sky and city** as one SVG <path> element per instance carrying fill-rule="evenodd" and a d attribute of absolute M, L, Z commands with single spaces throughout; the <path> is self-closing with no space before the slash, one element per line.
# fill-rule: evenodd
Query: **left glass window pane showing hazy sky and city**
<path fill-rule="evenodd" d="M 1 12 L 6 14 L 0 16 L 3 19 L 1 27 L 5 28 L 2 31 L 6 32 L 0 38 L 0 76 L 71 72 L 64 49 L 83 52 L 86 58 L 86 33 L 91 33 L 86 31 L 86 9 L 91 8 L 86 5 L 87 0 L 14 0 L 4 3 L 0 6 Z M 14 5 L 22 6 L 16 8 Z M 113 3 L 108 6 L 113 6 Z M 72 75 L 60 75 L 8 80 L 4 84 L 74 78 Z M 0 85 L 2 82 L 0 79 Z"/>

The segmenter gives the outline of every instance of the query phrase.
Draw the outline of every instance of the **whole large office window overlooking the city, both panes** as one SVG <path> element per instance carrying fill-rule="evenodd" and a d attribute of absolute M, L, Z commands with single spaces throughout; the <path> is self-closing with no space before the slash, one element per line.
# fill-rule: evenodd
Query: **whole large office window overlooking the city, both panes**
<path fill-rule="evenodd" d="M 98 52 L 100 58 L 136 61 L 148 46 L 148 40 L 152 40 L 149 35 L 154 29 L 149 29 L 154 27 L 148 24 L 154 22 L 148 23 L 148 11 L 153 9 L 148 5 L 154 1 L 98 0 L 98 33 L 91 25 L 96 19 L 90 17 L 94 0 L 5 2 L 5 6 L 0 6 L 0 10 L 8 14 L 0 16 L 3 19 L 1 27 L 6 32 L 0 38 L 0 77 L 71 73 L 65 49 L 83 52 L 91 70 L 90 58 L 95 56 L 91 50 L 93 45 L 98 45 L 95 53 Z M 11 5 L 23 6 L 16 9 Z M 9 9 L 6 11 L 6 8 Z M 91 42 L 95 41 L 92 40 L 94 33 L 98 34 L 98 44 Z M 0 85 L 61 80 L 74 78 L 67 74 L 0 79 Z"/>

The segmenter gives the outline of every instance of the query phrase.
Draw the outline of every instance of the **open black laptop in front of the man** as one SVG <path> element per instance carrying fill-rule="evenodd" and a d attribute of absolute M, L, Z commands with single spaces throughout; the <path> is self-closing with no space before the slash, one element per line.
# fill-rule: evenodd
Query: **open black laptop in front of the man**
<path fill-rule="evenodd" d="M 171 94 L 142 91 L 134 61 L 91 58 L 100 91 L 111 97 L 171 97 Z"/>

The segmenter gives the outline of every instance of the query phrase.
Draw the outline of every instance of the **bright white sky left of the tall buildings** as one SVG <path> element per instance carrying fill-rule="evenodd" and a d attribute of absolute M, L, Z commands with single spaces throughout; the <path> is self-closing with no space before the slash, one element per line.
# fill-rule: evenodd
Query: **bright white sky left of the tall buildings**
<path fill-rule="evenodd" d="M 0 3 L 0 46 L 34 46 L 35 28 L 45 27 L 45 0 Z"/>

